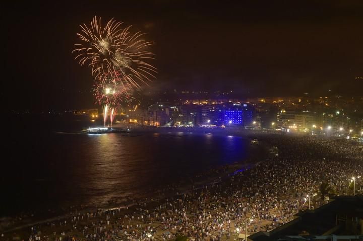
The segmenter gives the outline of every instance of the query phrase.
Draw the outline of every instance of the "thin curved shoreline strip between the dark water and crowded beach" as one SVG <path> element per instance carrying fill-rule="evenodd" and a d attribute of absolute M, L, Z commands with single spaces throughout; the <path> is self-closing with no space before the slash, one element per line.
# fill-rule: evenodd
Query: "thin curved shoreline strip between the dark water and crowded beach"
<path fill-rule="evenodd" d="M 140 129 L 138 129 L 138 131 L 135 134 L 143 134 L 143 133 L 153 133 L 156 132 L 156 130 L 160 130 L 161 128 L 150 128 L 147 131 L 140 131 Z M 165 131 L 164 131 L 165 130 Z M 224 132 L 224 130 L 222 130 Z M 178 133 L 178 132 L 183 132 L 183 133 L 198 133 L 198 134 L 208 134 L 208 133 L 212 133 L 210 130 L 208 131 L 204 131 L 203 129 L 198 130 L 198 131 L 191 131 L 189 129 L 184 129 L 183 131 L 181 131 L 179 128 L 165 128 L 163 129 L 163 131 L 158 131 L 156 133 L 161 133 L 161 134 L 168 134 L 168 133 Z M 130 134 L 133 134 L 130 133 Z M 78 133 L 74 133 L 74 132 L 61 132 L 59 134 L 78 134 Z M 85 133 L 87 134 L 87 133 Z M 231 133 L 221 133 L 221 132 L 214 132 L 212 134 L 215 135 L 221 135 L 221 136 L 228 136 Z M 251 140 L 253 137 L 243 133 L 234 133 L 233 136 L 235 137 L 242 137 L 242 138 L 246 138 L 247 140 Z M 18 216 L 18 215 L 14 215 L 14 216 L 4 216 L 1 217 L 0 220 L 3 220 L 3 225 L 0 226 L 0 232 L 3 233 L 10 233 L 16 230 L 21 230 L 24 229 L 26 227 L 30 227 L 32 225 L 38 225 L 38 224 L 43 224 L 43 223 L 47 223 L 47 222 L 51 222 L 51 221 L 57 221 L 57 220 L 62 220 L 62 219 L 66 219 L 69 216 L 72 216 L 73 211 L 76 212 L 81 212 L 81 213 L 87 213 L 87 212 L 94 212 L 97 210 L 103 210 L 103 211 L 107 211 L 107 210 L 114 210 L 114 209 L 118 209 L 118 208 L 126 208 L 126 207 L 132 207 L 137 205 L 137 203 L 141 200 L 144 199 L 153 199 L 152 197 L 157 197 L 154 199 L 159 200 L 159 202 L 161 202 L 161 200 L 163 200 L 162 202 L 164 202 L 165 200 L 167 200 L 168 198 L 174 198 L 177 197 L 179 195 L 183 195 L 183 194 L 187 194 L 187 193 L 191 193 L 193 191 L 198 191 L 198 190 L 202 190 L 205 187 L 209 187 L 209 186 L 213 186 L 216 185 L 218 183 L 221 183 L 223 181 L 225 181 L 226 179 L 229 179 L 231 176 L 237 174 L 237 172 L 241 169 L 243 169 L 243 171 L 255 168 L 256 165 L 259 165 L 262 162 L 265 162 L 268 158 L 269 158 L 269 153 L 267 151 L 267 149 L 269 147 L 266 146 L 267 143 L 263 143 L 261 142 L 259 145 L 263 145 L 264 148 L 266 148 L 266 153 L 264 154 L 264 157 L 262 161 L 259 162 L 252 162 L 252 159 L 250 159 L 249 163 L 243 163 L 244 160 L 240 160 L 239 162 L 235 162 L 233 164 L 225 164 L 222 166 L 218 166 L 215 168 L 210 168 L 208 170 L 206 170 L 205 172 L 202 173 L 198 173 L 195 177 L 188 177 L 186 181 L 184 181 L 184 183 L 180 183 L 176 182 L 176 183 L 171 183 L 168 184 L 166 186 L 162 186 L 159 187 L 157 189 L 154 190 L 150 190 L 150 191 L 146 191 L 142 194 L 140 194 L 140 197 L 136 197 L 133 199 L 129 199 L 129 200 L 123 200 L 120 202 L 117 201 L 110 201 L 109 204 L 104 204 L 100 207 L 97 207 L 97 205 L 91 205 L 91 204 L 85 204 L 85 205 L 79 205 L 79 206 L 71 206 L 71 209 L 69 210 L 64 210 L 62 208 L 62 210 L 57 210 L 55 213 L 57 213 L 56 215 L 52 215 L 50 213 L 48 214 L 41 214 L 39 215 L 40 218 L 39 220 L 37 220 L 37 217 L 35 216 L 35 218 L 30 218 L 30 220 L 28 221 L 24 221 L 27 219 L 22 219 L 22 220 L 18 220 L 15 222 L 20 222 L 17 225 L 4 225 L 4 222 L 8 219 L 8 223 L 14 222 L 14 219 Z M 217 174 L 217 175 L 213 175 Z M 209 174 L 208 174 L 209 173 Z M 211 175 L 212 174 L 212 175 Z M 208 176 L 209 175 L 209 176 Z M 190 180 L 192 179 L 197 179 L 197 180 L 193 180 L 193 183 L 190 183 Z M 28 218 L 29 219 L 29 218 Z M 25 222 L 25 223 L 22 223 Z M 13 226 L 10 228 L 7 228 L 9 226 Z M 5 227 L 5 228 L 3 228 Z"/>

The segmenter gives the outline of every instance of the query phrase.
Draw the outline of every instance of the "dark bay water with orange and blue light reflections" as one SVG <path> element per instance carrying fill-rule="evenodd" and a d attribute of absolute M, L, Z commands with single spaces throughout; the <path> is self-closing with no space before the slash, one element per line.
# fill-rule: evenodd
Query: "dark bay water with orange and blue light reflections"
<path fill-rule="evenodd" d="M 16 115 L 2 145 L 0 217 L 138 198 L 220 166 L 263 158 L 244 137 L 155 128 L 85 134 L 88 118 Z"/>

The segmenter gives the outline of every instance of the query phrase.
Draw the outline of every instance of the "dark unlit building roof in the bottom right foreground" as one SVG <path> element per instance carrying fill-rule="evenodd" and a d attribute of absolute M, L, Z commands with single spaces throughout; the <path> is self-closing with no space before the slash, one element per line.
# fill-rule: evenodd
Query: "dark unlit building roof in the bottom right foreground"
<path fill-rule="evenodd" d="M 270 232 L 254 233 L 248 240 L 363 240 L 363 195 L 337 196 L 315 210 L 297 213 L 292 221 Z"/>

